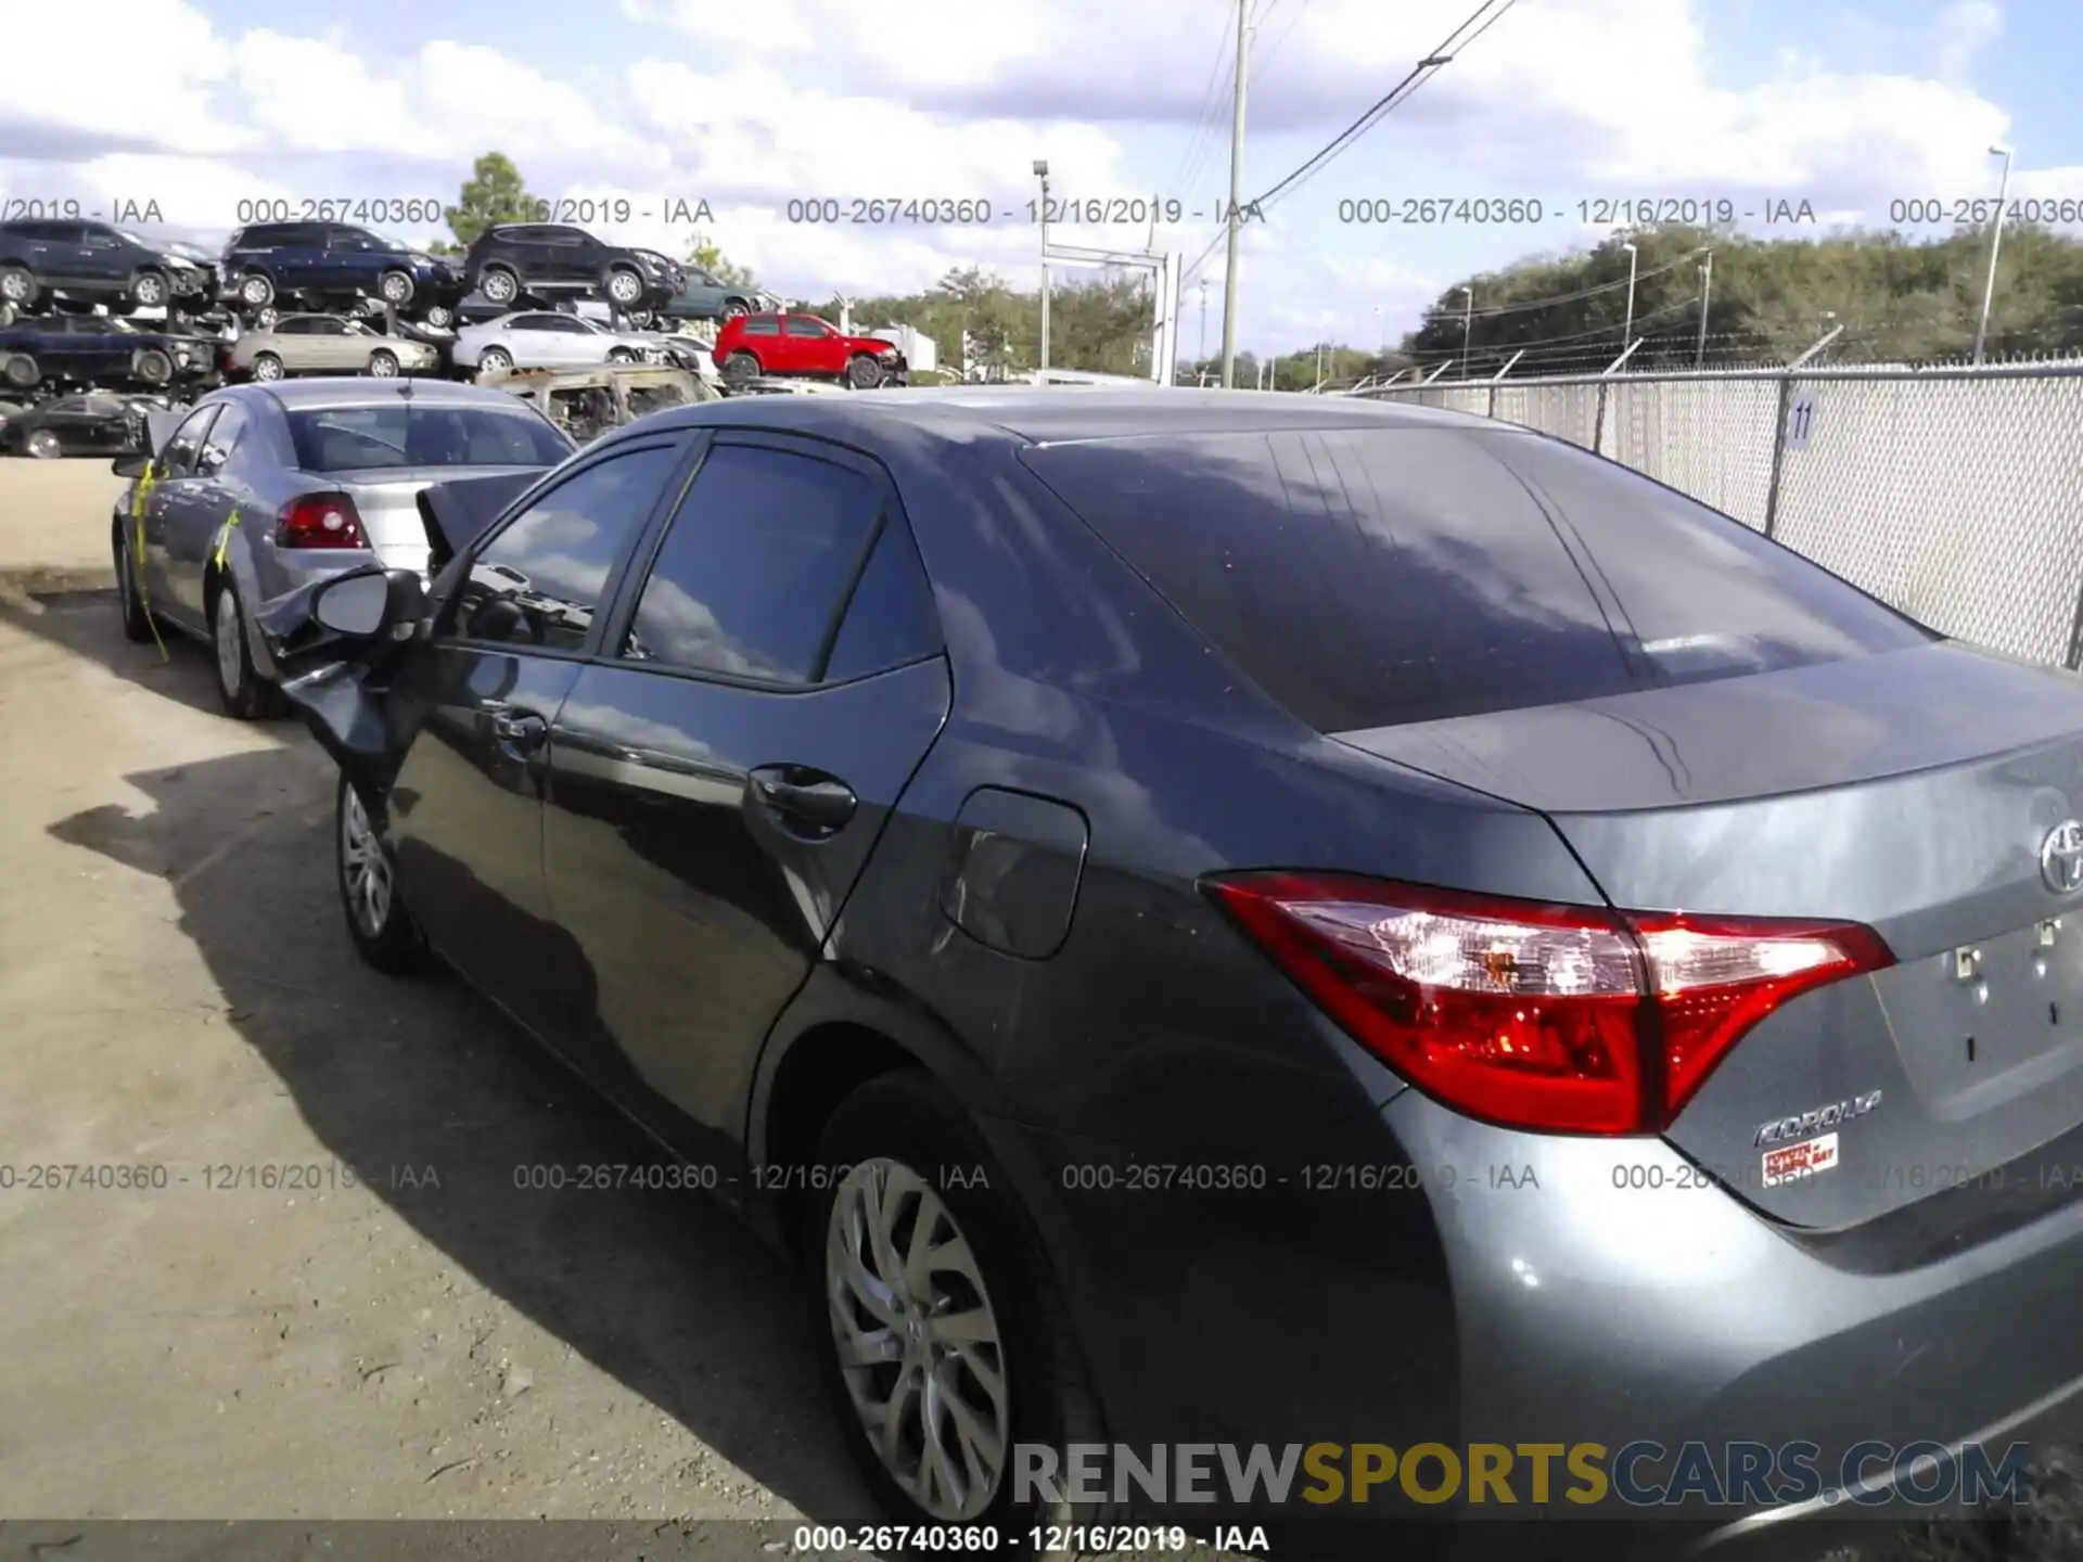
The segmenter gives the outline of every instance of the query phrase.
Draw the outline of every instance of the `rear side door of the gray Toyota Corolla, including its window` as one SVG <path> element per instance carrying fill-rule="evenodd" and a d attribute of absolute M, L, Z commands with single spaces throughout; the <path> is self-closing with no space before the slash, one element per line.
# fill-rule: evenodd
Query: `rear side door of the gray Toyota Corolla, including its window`
<path fill-rule="evenodd" d="M 646 552 L 550 729 L 550 908 L 592 977 L 567 985 L 592 1008 L 562 1025 L 610 1089 L 667 1100 L 721 1148 L 946 721 L 948 666 L 864 456 L 717 435 Z"/>

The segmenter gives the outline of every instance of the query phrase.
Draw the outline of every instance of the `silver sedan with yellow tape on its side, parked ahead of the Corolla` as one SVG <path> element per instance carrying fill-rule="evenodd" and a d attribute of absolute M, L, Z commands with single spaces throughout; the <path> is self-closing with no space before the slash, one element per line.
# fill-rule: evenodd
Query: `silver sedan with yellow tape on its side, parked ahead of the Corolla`
<path fill-rule="evenodd" d="M 154 454 L 115 462 L 123 633 L 208 641 L 246 721 L 279 708 L 258 604 L 371 562 L 425 571 L 423 487 L 504 473 L 519 492 L 575 450 L 506 392 L 412 379 L 229 385 L 148 425 Z"/>

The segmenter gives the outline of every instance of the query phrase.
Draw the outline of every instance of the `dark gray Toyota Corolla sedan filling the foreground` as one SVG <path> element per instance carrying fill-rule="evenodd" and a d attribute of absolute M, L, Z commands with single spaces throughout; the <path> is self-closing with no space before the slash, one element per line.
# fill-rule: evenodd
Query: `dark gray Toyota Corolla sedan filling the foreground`
<path fill-rule="evenodd" d="M 1764 1520 L 2083 1381 L 2075 677 L 1425 408 L 744 398 L 494 498 L 269 610 L 348 927 L 792 1248 L 892 1514 L 1698 1443 Z"/>

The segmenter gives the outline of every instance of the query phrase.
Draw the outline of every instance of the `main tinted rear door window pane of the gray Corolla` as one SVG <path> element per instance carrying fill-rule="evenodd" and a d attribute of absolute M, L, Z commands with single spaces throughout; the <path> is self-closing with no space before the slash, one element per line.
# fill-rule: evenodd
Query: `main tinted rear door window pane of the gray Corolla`
<path fill-rule="evenodd" d="M 717 446 L 652 564 L 625 656 L 810 683 L 881 492 L 785 450 Z"/>

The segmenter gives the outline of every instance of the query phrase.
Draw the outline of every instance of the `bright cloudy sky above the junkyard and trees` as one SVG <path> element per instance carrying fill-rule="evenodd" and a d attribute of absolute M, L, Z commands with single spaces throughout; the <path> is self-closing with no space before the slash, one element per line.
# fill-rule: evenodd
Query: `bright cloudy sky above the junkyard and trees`
<path fill-rule="evenodd" d="M 1246 4 L 1246 198 L 1477 10 Z M 2014 148 L 2014 198 L 2083 202 L 2077 0 L 1500 6 L 1244 225 L 1241 348 L 1396 342 L 1460 279 L 1587 248 L 1629 221 L 1627 202 L 1718 206 L 1766 235 L 1935 237 L 1952 202 L 1996 194 L 1991 144 Z M 1198 262 L 1181 350 L 1221 342 L 1235 0 L 98 0 L 94 23 L 150 90 L 17 69 L 77 60 L 77 25 L 48 0 L 0 0 L 17 60 L 0 217 L 79 202 L 215 244 L 304 202 L 350 221 L 375 202 L 371 227 L 421 242 L 446 231 L 425 212 L 500 150 L 608 240 L 685 254 L 692 227 L 669 219 L 706 202 L 700 227 L 727 256 L 823 300 L 914 292 L 964 264 L 1031 287 L 1031 165 L 1046 158 L 1056 200 L 1129 219 L 1058 225 L 1052 242 L 1181 252 Z M 877 198 L 887 221 L 852 221 Z M 1423 200 L 1431 219 L 1402 221 Z M 1904 200 L 1941 221 L 1891 221 L 1921 215 Z M 833 202 L 848 221 L 810 221 Z M 985 204 L 992 219 L 971 221 Z M 1150 208 L 1179 221 L 1152 231 Z M 1398 221 L 1366 221 L 1381 215 Z"/>

